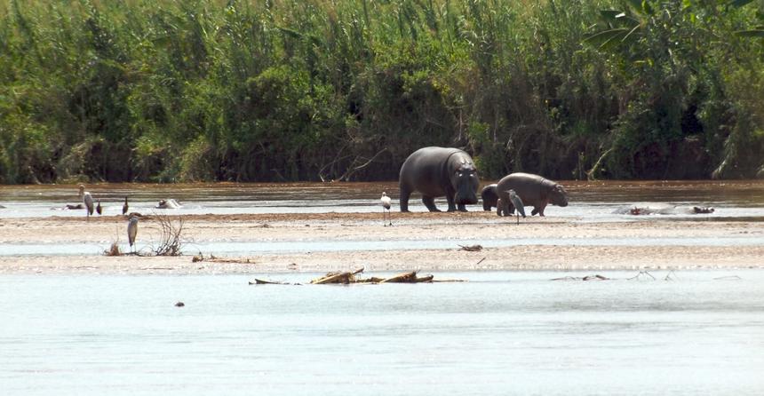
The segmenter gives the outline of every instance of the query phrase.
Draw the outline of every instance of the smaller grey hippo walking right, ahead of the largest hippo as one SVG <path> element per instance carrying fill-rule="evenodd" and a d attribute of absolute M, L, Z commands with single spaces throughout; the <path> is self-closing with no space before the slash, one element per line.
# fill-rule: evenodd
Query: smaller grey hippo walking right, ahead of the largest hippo
<path fill-rule="evenodd" d="M 568 192 L 561 185 L 530 173 L 511 173 L 498 181 L 496 186 L 500 207 L 497 214 L 509 216 L 514 213 L 514 207 L 509 200 L 507 191 L 514 190 L 520 196 L 523 204 L 532 206 L 530 215 L 544 216 L 546 205 L 568 206 Z"/>

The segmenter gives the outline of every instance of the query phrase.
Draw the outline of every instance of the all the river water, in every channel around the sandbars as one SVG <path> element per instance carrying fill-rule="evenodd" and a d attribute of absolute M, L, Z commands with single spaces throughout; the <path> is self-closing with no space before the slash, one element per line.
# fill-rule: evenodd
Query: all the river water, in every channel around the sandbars
<path fill-rule="evenodd" d="M 762 182 L 565 185 L 570 205 L 547 208 L 550 218 L 764 219 Z M 393 183 L 90 189 L 106 214 L 121 213 L 124 195 L 131 210 L 147 212 L 160 199 L 176 199 L 183 207 L 173 214 L 362 212 L 379 210 L 381 191 L 397 197 Z M 0 222 L 83 215 L 60 210 L 66 202 L 76 202 L 75 186 L 0 186 Z M 633 217 L 623 210 L 632 206 L 716 210 Z M 425 210 L 418 199 L 411 209 Z M 757 235 L 701 240 L 480 243 L 764 243 Z M 442 249 L 459 242 L 469 241 L 394 245 Z M 279 243 L 211 242 L 200 250 L 386 249 L 368 239 Z M 103 249 L 69 246 L 4 243 L 0 256 L 97 255 Z M 655 279 L 643 274 L 633 280 L 636 273 L 604 272 L 614 280 L 551 281 L 589 274 L 436 273 L 467 282 L 354 286 L 249 286 L 241 275 L 3 275 L 0 395 L 764 393 L 764 271 L 656 272 L 650 274 Z M 267 276 L 305 282 L 317 275 Z M 177 301 L 186 306 L 174 306 Z"/>

